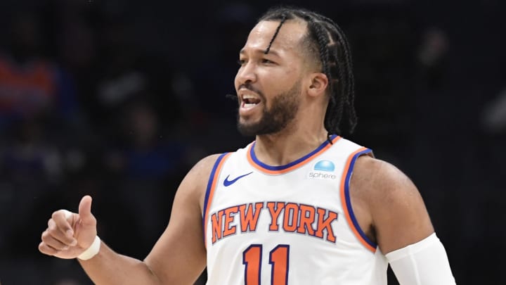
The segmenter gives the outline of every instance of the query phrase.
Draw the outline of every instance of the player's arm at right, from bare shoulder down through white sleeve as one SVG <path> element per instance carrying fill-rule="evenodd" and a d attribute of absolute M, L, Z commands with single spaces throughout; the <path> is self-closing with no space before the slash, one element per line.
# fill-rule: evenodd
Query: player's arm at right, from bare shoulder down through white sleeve
<path fill-rule="evenodd" d="M 401 285 L 455 284 L 422 196 L 403 172 L 363 156 L 350 183 L 358 222 L 377 242 Z"/>

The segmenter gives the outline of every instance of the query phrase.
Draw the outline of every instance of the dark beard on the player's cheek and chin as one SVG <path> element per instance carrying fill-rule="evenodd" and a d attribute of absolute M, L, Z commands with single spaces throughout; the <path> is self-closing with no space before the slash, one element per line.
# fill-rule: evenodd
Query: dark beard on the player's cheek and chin
<path fill-rule="evenodd" d="M 274 96 L 271 108 L 267 108 L 265 96 L 257 92 L 264 99 L 264 112 L 258 122 L 241 122 L 238 115 L 238 130 L 245 137 L 260 134 L 275 134 L 284 129 L 291 122 L 299 110 L 301 82 L 277 96 Z"/>

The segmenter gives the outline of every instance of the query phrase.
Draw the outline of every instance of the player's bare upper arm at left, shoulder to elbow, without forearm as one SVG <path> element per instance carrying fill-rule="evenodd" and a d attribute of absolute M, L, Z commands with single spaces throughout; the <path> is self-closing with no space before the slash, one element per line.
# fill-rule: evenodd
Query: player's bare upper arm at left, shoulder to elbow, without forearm
<path fill-rule="evenodd" d="M 193 284 L 205 268 L 202 208 L 209 174 L 218 156 L 201 160 L 190 171 L 193 175 L 183 179 L 174 199 L 169 226 L 145 258 L 162 284 Z M 191 189 L 195 184 L 197 191 Z"/>

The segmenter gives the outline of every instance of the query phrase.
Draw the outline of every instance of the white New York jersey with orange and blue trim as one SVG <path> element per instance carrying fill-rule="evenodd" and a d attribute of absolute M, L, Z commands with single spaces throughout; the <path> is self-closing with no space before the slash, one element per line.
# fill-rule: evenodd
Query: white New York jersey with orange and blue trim
<path fill-rule="evenodd" d="M 254 142 L 216 160 L 202 222 L 207 284 L 387 284 L 387 260 L 349 196 L 356 158 L 371 151 L 330 139 L 283 166 L 261 163 Z"/>

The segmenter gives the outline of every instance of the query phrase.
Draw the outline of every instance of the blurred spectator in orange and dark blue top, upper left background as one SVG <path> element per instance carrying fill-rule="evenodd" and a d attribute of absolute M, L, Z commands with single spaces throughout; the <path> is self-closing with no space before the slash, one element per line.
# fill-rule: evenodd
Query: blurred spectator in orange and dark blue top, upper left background
<path fill-rule="evenodd" d="M 72 79 L 41 54 L 44 31 L 37 14 L 11 17 L 8 46 L 0 51 L 0 127 L 40 117 L 70 119 L 77 108 Z"/>

